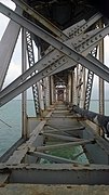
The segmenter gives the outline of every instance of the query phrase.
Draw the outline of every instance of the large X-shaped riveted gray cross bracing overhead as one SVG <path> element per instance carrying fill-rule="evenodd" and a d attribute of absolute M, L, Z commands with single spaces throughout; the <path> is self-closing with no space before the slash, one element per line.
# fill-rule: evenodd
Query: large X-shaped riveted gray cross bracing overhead
<path fill-rule="evenodd" d="M 60 50 L 60 52 L 58 51 L 53 51 L 50 52 L 47 55 L 45 55 L 44 57 L 42 57 L 42 61 L 40 61 L 39 63 L 41 63 L 41 65 L 43 66 L 41 68 L 40 66 L 40 72 L 36 75 L 32 76 L 32 78 L 29 78 L 28 80 L 24 81 L 23 80 L 28 77 L 31 73 L 32 69 L 35 68 L 29 68 L 29 70 L 25 72 L 25 76 L 22 75 L 22 79 L 21 77 L 18 79 L 16 79 L 13 83 L 12 83 L 12 89 L 14 93 L 10 93 L 10 88 L 9 88 L 9 93 L 6 93 L 6 96 L 4 95 L 4 98 L 1 98 L 0 102 L 1 105 L 4 104 L 3 102 L 8 102 L 9 100 L 12 100 L 13 98 L 15 98 L 16 95 L 18 95 L 21 92 L 23 92 L 24 90 L 26 90 L 27 88 L 29 88 L 32 83 L 35 83 L 36 81 L 39 81 L 40 79 L 42 79 L 43 77 L 51 75 L 55 69 L 57 69 L 58 67 L 62 66 L 62 63 L 65 64 L 66 62 L 66 57 L 65 58 L 60 58 L 59 63 L 55 63 L 51 65 L 51 63 L 54 63 L 58 60 L 58 57 L 62 57 L 64 54 L 66 54 L 70 60 L 72 60 L 72 63 L 74 63 L 74 65 L 77 65 L 77 63 L 80 63 L 85 66 L 86 68 L 94 70 L 95 74 L 97 74 L 98 76 L 100 76 L 101 78 L 106 79 L 107 81 L 109 80 L 108 78 L 108 67 L 103 65 L 100 66 L 101 63 L 99 63 L 98 61 L 94 60 L 96 62 L 96 64 L 94 62 L 92 62 L 91 60 L 84 57 L 83 55 L 81 55 L 80 53 L 78 53 L 76 50 L 72 50 L 71 48 L 67 47 L 66 44 L 64 44 L 62 41 L 55 39 L 52 35 L 43 31 L 42 29 L 40 29 L 38 26 L 35 27 L 33 24 L 31 24 L 30 22 L 27 22 L 27 20 L 23 18 L 22 16 L 19 16 L 18 14 L 14 13 L 13 11 L 8 11 L 9 9 L 5 8 L 4 5 L 1 5 L 1 12 L 3 13 L 3 9 L 5 10 L 4 12 L 6 12 L 5 14 L 9 15 L 10 17 L 14 18 L 14 21 L 18 22 L 19 18 L 22 20 L 22 25 L 24 25 L 24 27 L 28 27 L 28 25 L 30 26 L 29 29 L 39 35 L 41 38 L 43 37 L 43 39 L 46 39 L 46 41 L 49 43 L 52 43 L 56 49 Z M 8 13 L 10 12 L 10 13 Z M 15 17 L 16 16 L 16 17 Z M 98 16 L 95 16 L 98 20 Z M 100 17 L 100 16 L 99 16 Z M 95 21 L 95 18 L 94 18 Z M 30 24 L 29 24 L 30 23 Z M 87 22 L 88 23 L 88 22 Z M 91 23 L 90 23 L 91 24 Z M 86 24 L 85 24 L 86 25 Z M 35 28 L 37 28 L 37 31 L 35 30 Z M 86 28 L 85 28 L 86 29 Z M 97 29 L 99 32 L 95 34 L 94 39 L 90 39 L 87 40 L 87 43 L 81 44 L 79 50 L 84 50 L 85 47 L 88 48 L 88 44 L 91 44 L 91 47 L 88 48 L 87 52 L 90 50 L 92 50 L 94 47 L 96 47 L 96 44 L 98 43 L 98 41 L 108 34 L 108 26 L 105 27 L 104 29 Z M 96 31 L 96 30 L 95 30 Z M 46 36 L 46 37 L 45 37 Z M 87 38 L 86 38 L 87 39 Z M 88 42 L 90 41 L 90 42 Z M 69 40 L 67 41 L 67 44 L 69 43 Z M 70 43 L 71 44 L 71 43 Z M 73 48 L 73 47 L 72 47 Z M 81 49 L 83 48 L 83 49 Z M 64 52 L 64 54 L 63 54 Z M 86 55 L 87 53 L 85 53 L 85 51 L 83 52 L 84 55 Z M 49 56 L 50 55 L 50 56 Z M 53 56 L 55 56 L 55 58 Z M 51 58 L 52 57 L 52 58 Z M 90 58 L 92 58 L 90 56 Z M 47 60 L 47 61 L 45 61 Z M 52 60 L 52 61 L 51 61 Z M 43 62 L 44 61 L 44 62 Z M 62 62 L 63 61 L 63 62 Z M 49 63 L 49 66 L 47 64 Z M 71 62 L 70 62 L 71 63 Z M 36 64 L 36 66 L 38 65 L 38 63 Z M 50 67 L 51 65 L 51 67 Z M 46 66 L 46 67 L 45 67 Z M 72 64 L 70 64 L 70 66 L 72 66 Z M 39 68 L 36 67 L 38 70 Z M 43 69 L 43 70 L 42 70 Z M 22 84 L 19 84 L 19 82 L 22 81 Z M 18 86 L 19 84 L 19 86 Z M 14 89 L 14 86 L 18 86 L 16 89 Z M 2 93 L 1 93 L 2 94 Z M 8 99 L 6 99 L 8 98 Z M 3 99 L 3 100 L 2 100 Z"/>

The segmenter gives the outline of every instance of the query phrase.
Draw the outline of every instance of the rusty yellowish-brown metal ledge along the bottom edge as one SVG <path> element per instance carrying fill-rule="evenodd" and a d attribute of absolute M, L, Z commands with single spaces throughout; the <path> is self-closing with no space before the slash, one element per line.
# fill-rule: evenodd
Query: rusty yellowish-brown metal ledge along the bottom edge
<path fill-rule="evenodd" d="M 0 195 L 108 195 L 109 185 L 37 185 L 8 184 L 0 187 Z"/>

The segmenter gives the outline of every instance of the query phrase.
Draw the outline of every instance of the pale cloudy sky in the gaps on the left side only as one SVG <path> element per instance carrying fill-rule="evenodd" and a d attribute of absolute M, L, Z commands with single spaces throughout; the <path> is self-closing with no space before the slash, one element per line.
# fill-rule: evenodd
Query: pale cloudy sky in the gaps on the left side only
<path fill-rule="evenodd" d="M 0 2 L 8 5 L 12 10 L 15 10 L 15 4 L 11 0 L 0 0 Z M 0 40 L 3 36 L 3 32 L 9 22 L 10 20 L 0 13 Z M 35 52 L 38 53 L 36 47 L 35 47 Z M 36 55 L 36 62 L 37 61 L 38 61 L 38 57 Z M 9 67 L 3 87 L 6 87 L 11 81 L 17 78 L 21 74 L 22 74 L 22 31 L 19 32 L 18 40 L 14 49 L 13 57 L 11 60 L 10 67 Z M 28 90 L 27 98 L 32 99 L 31 88 Z"/>

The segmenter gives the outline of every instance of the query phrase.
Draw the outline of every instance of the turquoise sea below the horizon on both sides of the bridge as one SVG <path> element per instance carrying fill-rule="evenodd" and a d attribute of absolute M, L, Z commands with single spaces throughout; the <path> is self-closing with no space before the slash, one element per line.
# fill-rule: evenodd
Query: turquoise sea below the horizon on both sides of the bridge
<path fill-rule="evenodd" d="M 98 113 L 98 101 L 91 101 L 90 109 Z M 22 101 L 13 100 L 0 108 L 0 156 L 22 134 Z M 27 101 L 27 115 L 35 116 L 33 101 Z M 109 101 L 105 101 L 105 115 L 109 115 Z"/>

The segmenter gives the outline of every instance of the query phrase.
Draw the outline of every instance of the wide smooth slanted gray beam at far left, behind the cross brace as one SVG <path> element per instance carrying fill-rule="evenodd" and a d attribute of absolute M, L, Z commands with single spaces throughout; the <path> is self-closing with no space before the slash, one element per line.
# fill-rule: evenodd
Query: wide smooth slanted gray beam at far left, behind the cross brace
<path fill-rule="evenodd" d="M 19 8 L 16 8 L 15 12 L 22 13 Z M 19 29 L 21 26 L 11 20 L 0 41 L 0 90 L 5 79 Z"/>

